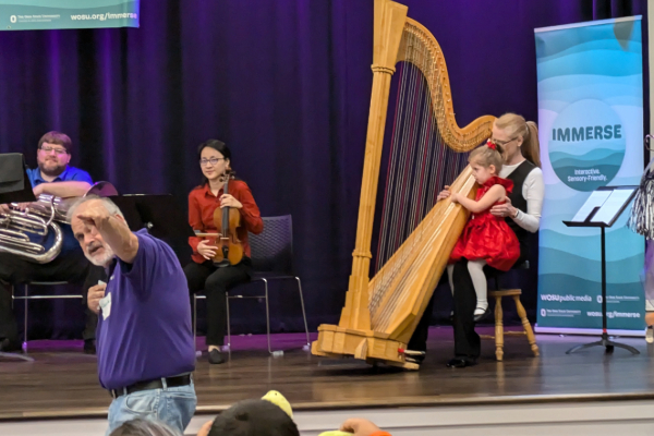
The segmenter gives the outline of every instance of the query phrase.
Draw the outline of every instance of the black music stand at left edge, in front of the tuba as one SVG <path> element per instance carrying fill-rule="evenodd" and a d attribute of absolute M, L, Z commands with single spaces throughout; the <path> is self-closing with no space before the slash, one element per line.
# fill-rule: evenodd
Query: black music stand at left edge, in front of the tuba
<path fill-rule="evenodd" d="M 0 204 L 36 201 L 26 168 L 25 158 L 20 153 L 0 154 Z M 34 359 L 28 355 L 1 351 L 0 358 L 34 362 Z"/>

